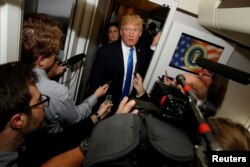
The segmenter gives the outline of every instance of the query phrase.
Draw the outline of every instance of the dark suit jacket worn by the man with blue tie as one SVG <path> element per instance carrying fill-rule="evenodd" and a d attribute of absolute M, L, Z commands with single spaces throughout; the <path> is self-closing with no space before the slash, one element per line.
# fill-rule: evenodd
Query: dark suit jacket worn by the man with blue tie
<path fill-rule="evenodd" d="M 135 48 L 137 55 L 135 71 L 144 77 L 153 52 L 140 42 Z M 124 63 L 121 41 L 99 48 L 92 65 L 88 95 L 93 94 L 100 85 L 111 81 L 107 94 L 112 95 L 114 104 L 112 110 L 116 111 L 122 93 L 123 76 Z M 98 105 L 104 99 L 105 97 L 100 98 Z"/>

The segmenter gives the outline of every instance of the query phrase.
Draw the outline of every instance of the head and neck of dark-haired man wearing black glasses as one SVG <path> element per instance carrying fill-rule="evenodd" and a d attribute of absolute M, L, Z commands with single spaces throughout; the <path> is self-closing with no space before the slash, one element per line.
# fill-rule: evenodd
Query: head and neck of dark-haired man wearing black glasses
<path fill-rule="evenodd" d="M 0 166 L 17 166 L 26 135 L 43 126 L 49 97 L 38 91 L 37 79 L 31 66 L 0 65 Z"/>

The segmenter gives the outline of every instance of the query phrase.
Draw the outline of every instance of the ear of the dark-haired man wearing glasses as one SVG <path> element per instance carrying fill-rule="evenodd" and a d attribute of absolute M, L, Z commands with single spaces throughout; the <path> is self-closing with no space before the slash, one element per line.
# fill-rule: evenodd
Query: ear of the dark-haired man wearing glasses
<path fill-rule="evenodd" d="M 17 113 L 10 119 L 10 126 L 13 129 L 21 129 L 26 124 L 27 116 L 23 113 Z"/>

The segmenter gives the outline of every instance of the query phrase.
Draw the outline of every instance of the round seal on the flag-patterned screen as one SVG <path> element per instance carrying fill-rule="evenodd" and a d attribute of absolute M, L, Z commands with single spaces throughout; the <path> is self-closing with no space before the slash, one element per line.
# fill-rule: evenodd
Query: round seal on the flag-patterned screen
<path fill-rule="evenodd" d="M 184 64 L 190 70 L 197 70 L 200 67 L 195 63 L 198 57 L 207 58 L 207 49 L 201 44 L 194 44 L 185 53 Z"/>

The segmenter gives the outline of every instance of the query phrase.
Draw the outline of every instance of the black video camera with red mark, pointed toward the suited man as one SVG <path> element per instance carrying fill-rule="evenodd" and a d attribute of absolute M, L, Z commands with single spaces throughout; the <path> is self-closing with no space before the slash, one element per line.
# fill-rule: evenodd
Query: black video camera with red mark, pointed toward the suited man
<path fill-rule="evenodd" d="M 150 102 L 136 100 L 136 108 L 150 112 L 166 121 L 180 123 L 190 119 L 189 98 L 178 87 L 168 86 L 161 81 L 156 81 L 149 93 Z M 207 118 L 216 113 L 216 109 L 206 102 L 199 105 L 202 115 Z"/>

